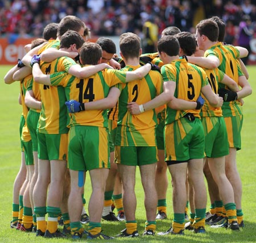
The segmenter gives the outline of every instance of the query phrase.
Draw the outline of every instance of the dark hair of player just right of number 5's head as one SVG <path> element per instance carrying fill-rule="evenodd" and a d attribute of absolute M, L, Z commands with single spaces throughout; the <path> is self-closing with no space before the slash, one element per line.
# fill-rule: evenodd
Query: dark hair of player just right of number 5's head
<path fill-rule="evenodd" d="M 196 37 L 190 32 L 180 32 L 175 35 L 179 41 L 180 48 L 183 50 L 184 54 L 191 56 L 196 51 Z"/>

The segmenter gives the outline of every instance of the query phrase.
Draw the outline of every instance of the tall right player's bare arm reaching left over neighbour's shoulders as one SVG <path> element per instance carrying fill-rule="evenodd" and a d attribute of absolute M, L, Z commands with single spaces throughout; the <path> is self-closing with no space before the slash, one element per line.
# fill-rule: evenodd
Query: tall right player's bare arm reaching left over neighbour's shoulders
<path fill-rule="evenodd" d="M 209 55 L 208 57 L 187 56 L 187 59 L 188 59 L 188 62 L 192 64 L 196 64 L 203 68 L 214 69 L 220 66 L 220 60 L 218 60 L 218 57 L 214 55 Z"/>

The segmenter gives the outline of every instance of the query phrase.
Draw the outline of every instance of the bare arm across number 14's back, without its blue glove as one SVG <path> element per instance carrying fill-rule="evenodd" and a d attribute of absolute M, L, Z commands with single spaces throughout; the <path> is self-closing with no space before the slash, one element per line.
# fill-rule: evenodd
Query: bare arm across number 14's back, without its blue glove
<path fill-rule="evenodd" d="M 84 103 L 85 111 L 89 110 L 106 110 L 113 108 L 117 104 L 120 95 L 120 90 L 117 87 L 112 87 L 109 90 L 108 97 L 93 102 Z"/>

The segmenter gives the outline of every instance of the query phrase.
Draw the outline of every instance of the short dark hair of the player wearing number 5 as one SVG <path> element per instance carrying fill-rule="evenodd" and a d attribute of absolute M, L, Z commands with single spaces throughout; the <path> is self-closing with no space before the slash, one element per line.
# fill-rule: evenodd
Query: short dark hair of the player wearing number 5
<path fill-rule="evenodd" d="M 166 35 L 158 41 L 158 52 L 165 52 L 168 56 L 179 55 L 180 44 L 175 36 Z"/>

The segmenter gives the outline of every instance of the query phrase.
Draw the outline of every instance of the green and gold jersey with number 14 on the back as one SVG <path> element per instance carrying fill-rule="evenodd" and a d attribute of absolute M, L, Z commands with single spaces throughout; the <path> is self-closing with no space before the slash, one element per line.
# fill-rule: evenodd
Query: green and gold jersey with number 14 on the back
<path fill-rule="evenodd" d="M 65 87 L 67 100 L 77 100 L 81 103 L 104 99 L 108 96 L 110 87 L 126 81 L 126 72 L 115 69 L 104 69 L 89 78 L 76 78 L 70 74 L 62 78 L 51 75 L 53 86 Z M 67 108 L 66 108 L 67 110 Z M 69 114 L 69 127 L 73 125 L 91 125 L 108 127 L 107 110 L 81 111 Z"/>

